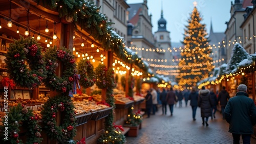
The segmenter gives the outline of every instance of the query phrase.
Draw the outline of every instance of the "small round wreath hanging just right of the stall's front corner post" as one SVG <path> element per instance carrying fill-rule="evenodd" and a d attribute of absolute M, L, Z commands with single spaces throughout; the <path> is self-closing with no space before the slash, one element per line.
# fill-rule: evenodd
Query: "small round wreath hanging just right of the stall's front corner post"
<path fill-rule="evenodd" d="M 88 60 L 80 60 L 77 71 L 81 76 L 80 85 L 83 88 L 92 87 L 96 81 L 93 65 Z"/>

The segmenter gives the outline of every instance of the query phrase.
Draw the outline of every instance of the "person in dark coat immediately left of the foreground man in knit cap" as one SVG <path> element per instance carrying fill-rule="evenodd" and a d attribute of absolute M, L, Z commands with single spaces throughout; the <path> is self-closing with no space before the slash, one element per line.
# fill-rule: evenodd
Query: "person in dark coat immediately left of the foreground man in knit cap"
<path fill-rule="evenodd" d="M 227 105 L 227 101 L 230 99 L 228 92 L 225 90 L 226 87 L 222 87 L 222 90 L 219 93 L 218 101 L 221 105 L 221 113 L 222 113 L 222 119 L 225 120 L 225 114 L 224 109 Z"/>

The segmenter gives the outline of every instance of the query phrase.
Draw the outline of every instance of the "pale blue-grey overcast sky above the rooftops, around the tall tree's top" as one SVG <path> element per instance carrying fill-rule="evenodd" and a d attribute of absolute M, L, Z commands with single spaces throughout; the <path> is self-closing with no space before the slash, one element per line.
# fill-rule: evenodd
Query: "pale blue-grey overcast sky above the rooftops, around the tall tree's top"
<path fill-rule="evenodd" d="M 234 0 L 196 0 L 199 10 L 206 24 L 206 31 L 210 31 L 210 21 L 214 32 L 225 32 L 226 21 L 230 19 L 231 1 Z M 152 14 L 152 32 L 158 29 L 158 20 L 163 17 L 167 21 L 166 29 L 170 32 L 171 42 L 183 41 L 184 25 L 187 25 L 189 14 L 193 11 L 195 0 L 147 0 L 148 14 Z M 143 3 L 143 0 L 127 0 L 127 4 Z"/>

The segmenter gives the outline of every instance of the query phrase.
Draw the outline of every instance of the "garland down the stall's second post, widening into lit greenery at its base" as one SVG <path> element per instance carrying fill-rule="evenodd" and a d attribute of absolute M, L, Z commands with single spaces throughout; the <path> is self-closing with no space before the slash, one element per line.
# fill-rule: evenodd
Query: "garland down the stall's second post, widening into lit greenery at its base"
<path fill-rule="evenodd" d="M 116 82 L 114 80 L 114 71 L 112 68 L 105 69 L 103 71 L 106 75 L 106 102 L 113 108 L 115 108 L 115 100 L 113 97 L 113 89 L 116 87 Z M 109 116 L 105 118 L 105 131 L 99 137 L 98 142 L 100 143 L 115 143 L 122 144 L 125 143 L 125 136 L 121 132 L 121 127 L 114 125 L 114 111 L 111 111 Z"/>

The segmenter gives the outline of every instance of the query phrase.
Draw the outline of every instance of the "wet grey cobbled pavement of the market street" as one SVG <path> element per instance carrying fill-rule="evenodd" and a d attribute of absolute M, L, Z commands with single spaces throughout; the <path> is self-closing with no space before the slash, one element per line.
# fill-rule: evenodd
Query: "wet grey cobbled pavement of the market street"
<path fill-rule="evenodd" d="M 127 144 L 173 144 L 173 143 L 232 143 L 232 134 L 228 132 L 228 123 L 222 120 L 219 111 L 215 114 L 216 119 L 209 118 L 209 126 L 202 125 L 200 108 L 197 108 L 196 121 L 192 118 L 191 106 L 174 107 L 173 116 L 170 116 L 167 106 L 167 114 L 162 115 L 159 108 L 155 115 L 144 119 L 142 129 L 137 137 L 127 137 Z M 240 138 L 242 142 L 242 137 Z M 251 137 L 251 143 L 256 143 L 256 139 Z"/>

